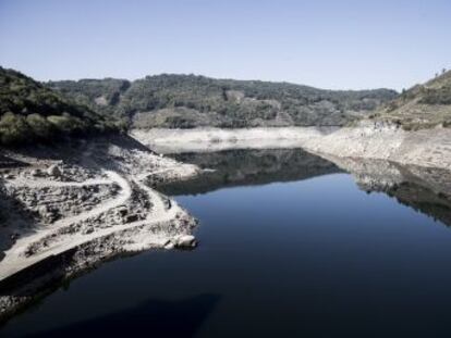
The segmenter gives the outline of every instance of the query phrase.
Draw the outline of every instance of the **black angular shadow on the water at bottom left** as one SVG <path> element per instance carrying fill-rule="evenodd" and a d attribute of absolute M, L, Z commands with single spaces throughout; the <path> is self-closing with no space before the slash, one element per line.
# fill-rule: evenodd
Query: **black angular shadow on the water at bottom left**
<path fill-rule="evenodd" d="M 125 311 L 32 335 L 29 337 L 193 337 L 218 304 L 220 296 L 199 295 L 176 301 L 147 300 Z"/>

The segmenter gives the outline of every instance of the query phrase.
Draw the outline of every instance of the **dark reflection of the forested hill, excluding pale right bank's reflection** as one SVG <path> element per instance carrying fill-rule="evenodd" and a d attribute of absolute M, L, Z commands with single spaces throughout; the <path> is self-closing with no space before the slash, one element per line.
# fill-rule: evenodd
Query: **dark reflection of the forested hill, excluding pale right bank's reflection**
<path fill-rule="evenodd" d="M 222 187 L 301 180 L 341 172 L 333 163 L 302 149 L 242 149 L 172 157 L 215 171 L 183 183 L 160 186 L 168 195 L 205 193 Z"/>

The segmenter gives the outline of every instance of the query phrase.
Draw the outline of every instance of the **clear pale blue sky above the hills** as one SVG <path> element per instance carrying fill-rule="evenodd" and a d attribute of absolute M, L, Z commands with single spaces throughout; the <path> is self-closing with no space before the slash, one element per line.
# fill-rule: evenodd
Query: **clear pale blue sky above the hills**
<path fill-rule="evenodd" d="M 0 65 L 37 79 L 194 73 L 401 89 L 451 67 L 450 0 L 0 0 Z"/>

